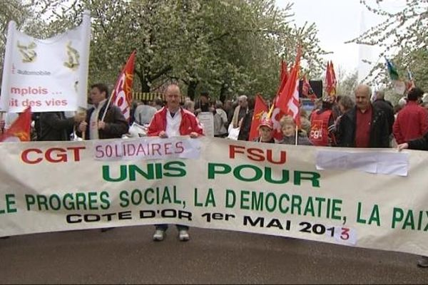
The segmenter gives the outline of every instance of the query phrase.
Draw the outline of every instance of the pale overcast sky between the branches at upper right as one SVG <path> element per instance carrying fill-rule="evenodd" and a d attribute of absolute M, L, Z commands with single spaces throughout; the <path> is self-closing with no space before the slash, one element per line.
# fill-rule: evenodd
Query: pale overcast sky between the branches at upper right
<path fill-rule="evenodd" d="M 292 11 L 293 19 L 298 26 L 315 22 L 318 28 L 318 38 L 321 47 L 332 54 L 325 56 L 326 60 L 332 60 L 335 66 L 341 66 L 346 71 L 368 71 L 368 66 L 359 66 L 359 45 L 347 43 L 352 38 L 360 35 L 362 11 L 364 11 L 364 26 L 368 29 L 382 22 L 382 17 L 367 11 L 360 0 L 276 0 L 277 6 L 284 8 L 288 2 L 294 2 Z M 372 6 L 377 6 L 376 1 L 368 0 Z M 404 0 L 384 0 L 382 8 L 388 11 L 398 11 L 404 7 Z M 379 48 L 363 48 L 365 58 L 377 60 Z M 360 75 L 361 76 L 361 75 Z M 360 77 L 359 76 L 359 77 Z"/>

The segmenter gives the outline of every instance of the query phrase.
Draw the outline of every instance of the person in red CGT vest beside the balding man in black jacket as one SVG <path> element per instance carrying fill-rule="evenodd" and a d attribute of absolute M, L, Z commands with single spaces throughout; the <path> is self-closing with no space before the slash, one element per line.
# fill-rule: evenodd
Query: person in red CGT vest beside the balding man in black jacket
<path fill-rule="evenodd" d="M 334 146 L 335 138 L 335 114 L 332 111 L 335 96 L 325 95 L 322 97 L 322 105 L 318 110 L 312 111 L 310 115 L 309 139 L 312 145 Z"/>

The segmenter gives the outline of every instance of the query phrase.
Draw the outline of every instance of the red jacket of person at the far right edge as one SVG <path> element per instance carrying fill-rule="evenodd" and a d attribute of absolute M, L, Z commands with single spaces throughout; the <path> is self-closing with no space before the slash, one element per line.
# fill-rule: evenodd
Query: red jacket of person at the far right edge
<path fill-rule="evenodd" d="M 392 133 L 397 143 L 421 138 L 428 132 L 428 112 L 414 101 L 409 101 L 397 114 Z"/>

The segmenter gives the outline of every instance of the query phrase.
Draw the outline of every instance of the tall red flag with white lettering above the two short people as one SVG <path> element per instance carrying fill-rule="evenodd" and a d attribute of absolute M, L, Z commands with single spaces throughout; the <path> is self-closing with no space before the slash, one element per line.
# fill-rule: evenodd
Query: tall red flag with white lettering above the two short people
<path fill-rule="evenodd" d="M 300 127 L 299 72 L 301 53 L 300 48 L 298 48 L 295 65 L 275 102 L 275 108 L 280 108 L 285 115 L 291 115 L 295 119 L 297 127 Z"/>

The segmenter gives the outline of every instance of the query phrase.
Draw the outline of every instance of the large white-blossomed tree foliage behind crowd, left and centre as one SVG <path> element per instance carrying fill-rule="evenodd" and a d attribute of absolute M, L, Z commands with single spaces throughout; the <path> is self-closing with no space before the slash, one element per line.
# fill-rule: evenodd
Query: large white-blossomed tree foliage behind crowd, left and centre
<path fill-rule="evenodd" d="M 297 44 L 306 72 L 314 77 L 322 69 L 325 52 L 315 25 L 293 25 L 292 5 L 279 9 L 274 0 L 32 2 L 39 6 L 21 4 L 18 9 L 21 19 L 31 22 L 24 31 L 40 38 L 78 25 L 83 11 L 91 11 L 89 83 L 113 85 L 134 49 L 135 90 L 162 90 L 175 81 L 191 98 L 200 90 L 223 99 L 243 93 L 272 97 L 280 60 L 294 61 Z M 1 19 L 1 28 L 10 19 L 15 18 Z"/>

